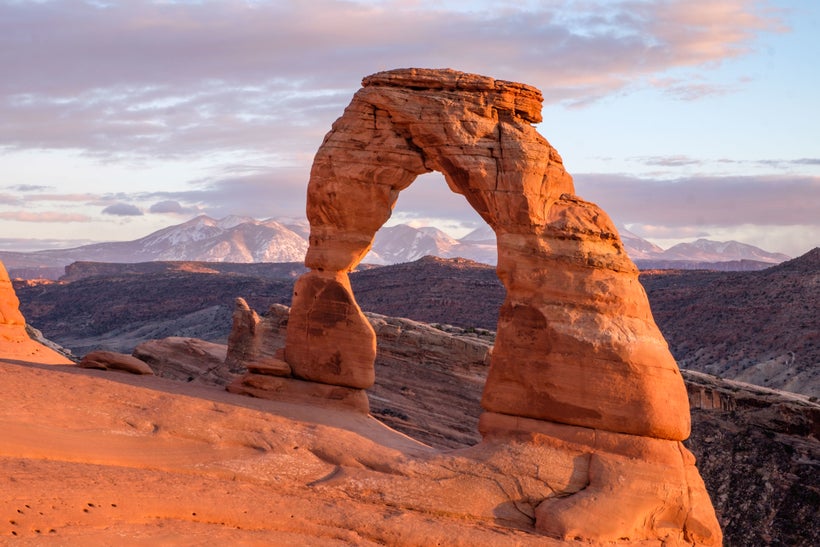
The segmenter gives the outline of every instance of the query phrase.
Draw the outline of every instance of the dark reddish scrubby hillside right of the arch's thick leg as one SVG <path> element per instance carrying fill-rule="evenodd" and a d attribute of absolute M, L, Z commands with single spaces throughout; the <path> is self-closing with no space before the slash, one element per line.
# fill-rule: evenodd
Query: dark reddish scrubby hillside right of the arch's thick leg
<path fill-rule="evenodd" d="M 759 272 L 642 283 L 681 367 L 820 396 L 820 248 Z"/>

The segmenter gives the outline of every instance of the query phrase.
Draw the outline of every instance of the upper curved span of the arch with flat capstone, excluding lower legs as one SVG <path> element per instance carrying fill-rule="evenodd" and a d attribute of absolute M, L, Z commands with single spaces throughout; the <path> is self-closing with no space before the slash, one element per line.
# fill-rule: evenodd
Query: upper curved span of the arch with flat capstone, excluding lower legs
<path fill-rule="evenodd" d="M 574 187 L 560 155 L 532 126 L 542 100 L 534 87 L 450 69 L 364 78 L 314 159 L 306 264 L 352 269 L 399 192 L 430 171 L 441 172 L 499 234 L 545 226 L 551 203 Z"/>

